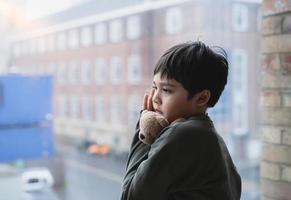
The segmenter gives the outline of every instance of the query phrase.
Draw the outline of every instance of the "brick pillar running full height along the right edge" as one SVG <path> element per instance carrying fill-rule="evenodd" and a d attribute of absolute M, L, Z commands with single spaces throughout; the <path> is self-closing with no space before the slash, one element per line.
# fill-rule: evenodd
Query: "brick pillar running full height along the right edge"
<path fill-rule="evenodd" d="M 291 0 L 262 9 L 261 200 L 291 200 Z"/>

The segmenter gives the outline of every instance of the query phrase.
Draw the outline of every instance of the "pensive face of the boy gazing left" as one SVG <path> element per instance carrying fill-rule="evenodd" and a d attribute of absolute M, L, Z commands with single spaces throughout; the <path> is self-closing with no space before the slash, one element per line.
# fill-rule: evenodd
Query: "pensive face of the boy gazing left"
<path fill-rule="evenodd" d="M 188 118 L 196 111 L 195 95 L 188 100 L 188 91 L 175 79 L 156 74 L 153 79 L 153 107 L 170 123 L 178 118 Z"/>

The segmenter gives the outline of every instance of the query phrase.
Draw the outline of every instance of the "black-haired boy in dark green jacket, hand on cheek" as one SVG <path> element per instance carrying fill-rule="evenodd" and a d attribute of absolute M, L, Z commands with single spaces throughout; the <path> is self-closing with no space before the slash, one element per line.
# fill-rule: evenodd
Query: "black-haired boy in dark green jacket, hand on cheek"
<path fill-rule="evenodd" d="M 237 200 L 241 178 L 207 115 L 227 83 L 221 48 L 188 42 L 170 48 L 154 69 L 143 109 L 170 123 L 151 145 L 136 133 L 123 181 L 122 200 Z"/>

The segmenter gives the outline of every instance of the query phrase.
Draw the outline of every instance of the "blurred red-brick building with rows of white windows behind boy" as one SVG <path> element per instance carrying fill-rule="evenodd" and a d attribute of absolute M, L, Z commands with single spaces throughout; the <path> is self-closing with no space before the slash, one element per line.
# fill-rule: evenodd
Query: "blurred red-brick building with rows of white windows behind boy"
<path fill-rule="evenodd" d="M 257 132 L 259 16 L 257 3 L 146 1 L 16 35 L 11 66 L 54 76 L 58 136 L 124 150 L 163 51 L 189 40 L 219 45 L 229 84 L 209 112 L 223 136 L 240 142 Z M 241 148 L 238 156 L 250 156 Z"/>

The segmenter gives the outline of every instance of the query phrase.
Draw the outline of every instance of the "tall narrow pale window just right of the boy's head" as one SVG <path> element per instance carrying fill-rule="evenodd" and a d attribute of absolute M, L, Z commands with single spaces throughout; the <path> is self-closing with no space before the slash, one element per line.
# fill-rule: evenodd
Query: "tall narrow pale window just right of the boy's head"
<path fill-rule="evenodd" d="M 243 49 L 235 49 L 232 54 L 232 116 L 234 133 L 246 134 L 248 131 L 248 57 Z"/>

